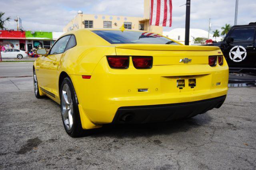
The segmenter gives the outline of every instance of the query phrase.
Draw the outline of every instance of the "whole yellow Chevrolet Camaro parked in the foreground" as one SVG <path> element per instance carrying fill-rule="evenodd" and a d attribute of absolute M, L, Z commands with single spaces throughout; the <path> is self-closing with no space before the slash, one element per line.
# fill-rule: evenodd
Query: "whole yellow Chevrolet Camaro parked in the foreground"
<path fill-rule="evenodd" d="M 36 98 L 60 104 L 72 137 L 106 123 L 193 117 L 219 108 L 228 91 L 219 47 L 185 46 L 156 33 L 79 29 L 36 53 Z"/>

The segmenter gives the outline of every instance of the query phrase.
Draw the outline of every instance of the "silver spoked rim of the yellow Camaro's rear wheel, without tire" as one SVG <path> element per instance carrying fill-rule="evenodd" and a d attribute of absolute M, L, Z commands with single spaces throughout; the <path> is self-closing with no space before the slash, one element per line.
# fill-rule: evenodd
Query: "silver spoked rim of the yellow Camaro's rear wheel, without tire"
<path fill-rule="evenodd" d="M 73 125 L 73 102 L 71 98 L 71 92 L 68 84 L 64 84 L 61 92 L 61 115 L 64 124 L 68 130 L 72 128 Z"/>

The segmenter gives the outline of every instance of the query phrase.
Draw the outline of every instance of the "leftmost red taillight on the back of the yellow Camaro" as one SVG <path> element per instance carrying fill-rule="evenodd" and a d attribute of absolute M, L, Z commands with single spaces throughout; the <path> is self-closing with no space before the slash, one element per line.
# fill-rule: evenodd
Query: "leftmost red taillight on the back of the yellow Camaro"
<path fill-rule="evenodd" d="M 126 56 L 107 56 L 108 64 L 111 68 L 125 69 L 129 67 L 129 57 Z"/>

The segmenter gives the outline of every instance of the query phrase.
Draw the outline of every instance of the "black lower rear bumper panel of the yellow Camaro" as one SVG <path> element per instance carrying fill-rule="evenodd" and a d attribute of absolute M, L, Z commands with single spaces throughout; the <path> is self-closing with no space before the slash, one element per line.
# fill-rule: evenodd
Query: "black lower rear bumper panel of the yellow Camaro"
<path fill-rule="evenodd" d="M 219 108 L 225 98 L 226 95 L 196 102 L 120 107 L 112 123 L 162 122 L 193 117 L 213 108 Z"/>

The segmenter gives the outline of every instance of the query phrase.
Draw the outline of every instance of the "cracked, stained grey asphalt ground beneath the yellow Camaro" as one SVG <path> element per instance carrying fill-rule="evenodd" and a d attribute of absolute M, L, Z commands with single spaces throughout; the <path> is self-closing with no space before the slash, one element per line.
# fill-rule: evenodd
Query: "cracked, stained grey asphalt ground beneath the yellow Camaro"
<path fill-rule="evenodd" d="M 71 138 L 60 106 L 36 99 L 32 81 L 0 78 L 0 169 L 256 168 L 256 87 L 230 88 L 220 109 L 191 119 Z"/>

